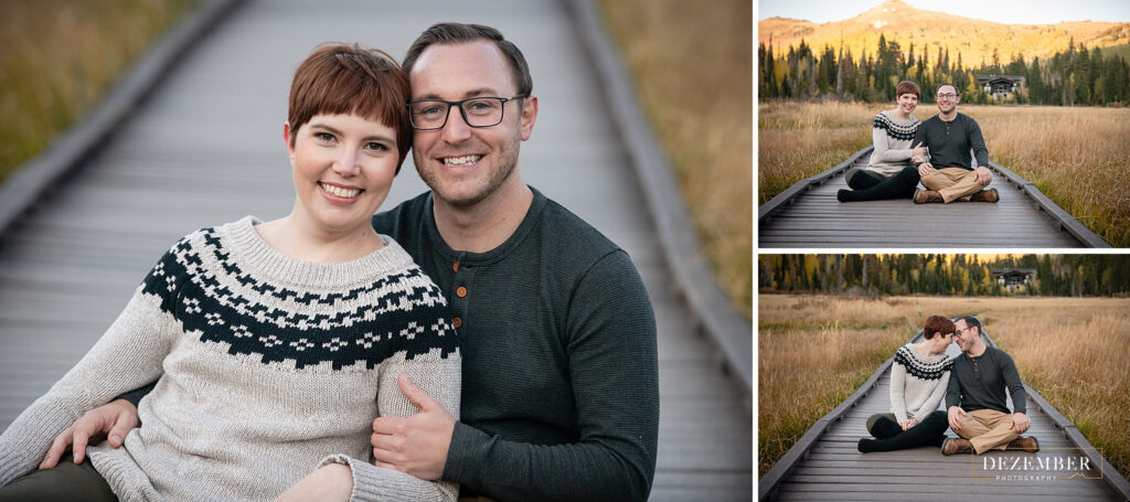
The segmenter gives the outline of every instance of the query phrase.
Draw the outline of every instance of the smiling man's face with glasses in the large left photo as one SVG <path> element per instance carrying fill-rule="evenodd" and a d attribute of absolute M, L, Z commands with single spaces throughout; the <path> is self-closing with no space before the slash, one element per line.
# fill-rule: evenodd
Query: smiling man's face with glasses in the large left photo
<path fill-rule="evenodd" d="M 461 101 L 469 97 L 514 97 L 510 64 L 488 41 L 432 45 L 416 60 L 412 101 Z M 442 129 L 415 131 L 412 161 L 434 196 L 457 207 L 473 206 L 495 193 L 518 167 L 521 141 L 530 137 L 537 98 L 503 104 L 502 123 L 487 128 L 467 124 L 457 106 L 447 111 Z"/>

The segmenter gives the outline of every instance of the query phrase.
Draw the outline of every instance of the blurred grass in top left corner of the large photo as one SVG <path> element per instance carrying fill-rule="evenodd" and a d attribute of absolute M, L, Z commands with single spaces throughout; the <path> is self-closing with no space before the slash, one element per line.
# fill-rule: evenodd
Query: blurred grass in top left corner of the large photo
<path fill-rule="evenodd" d="M 98 102 L 202 0 L 5 0 L 0 182 Z"/>

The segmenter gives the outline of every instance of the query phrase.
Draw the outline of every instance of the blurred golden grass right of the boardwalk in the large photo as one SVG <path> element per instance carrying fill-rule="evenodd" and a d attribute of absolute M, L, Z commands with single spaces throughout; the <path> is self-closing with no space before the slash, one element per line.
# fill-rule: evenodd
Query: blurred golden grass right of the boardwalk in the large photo
<path fill-rule="evenodd" d="M 753 11 L 599 0 L 719 285 L 753 315 Z"/>

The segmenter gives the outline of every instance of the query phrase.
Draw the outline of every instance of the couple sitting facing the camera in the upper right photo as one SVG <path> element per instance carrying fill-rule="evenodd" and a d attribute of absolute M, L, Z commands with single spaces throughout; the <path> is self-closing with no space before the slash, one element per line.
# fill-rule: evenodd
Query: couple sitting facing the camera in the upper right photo
<path fill-rule="evenodd" d="M 912 81 L 898 83 L 896 106 L 875 118 L 871 162 L 867 168 L 847 171 L 845 178 L 852 190 L 840 190 L 836 199 L 914 199 L 916 204 L 1000 199 L 997 189 L 984 190 L 992 182 L 989 150 L 977 122 L 957 113 L 957 87 L 942 84 L 937 94 L 938 114 L 920 124 L 911 112 L 918 107 L 921 89 Z M 971 149 L 975 166 L 970 162 Z M 927 190 L 918 189 L 920 180 Z"/>

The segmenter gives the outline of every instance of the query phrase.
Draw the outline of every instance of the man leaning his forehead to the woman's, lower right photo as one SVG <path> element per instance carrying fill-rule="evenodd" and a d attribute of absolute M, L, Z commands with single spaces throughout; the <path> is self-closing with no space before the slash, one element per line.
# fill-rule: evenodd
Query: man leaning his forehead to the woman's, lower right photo
<path fill-rule="evenodd" d="M 984 453 L 997 450 L 1040 451 L 1035 438 L 1022 438 L 1031 423 L 1024 413 L 1027 395 L 1012 357 L 981 339 L 981 321 L 958 319 L 957 346 L 962 355 L 954 360 L 946 389 L 949 429 L 963 439 L 947 439 L 944 455 Z M 1005 391 L 1012 397 L 1014 413 L 1008 412 Z"/>

